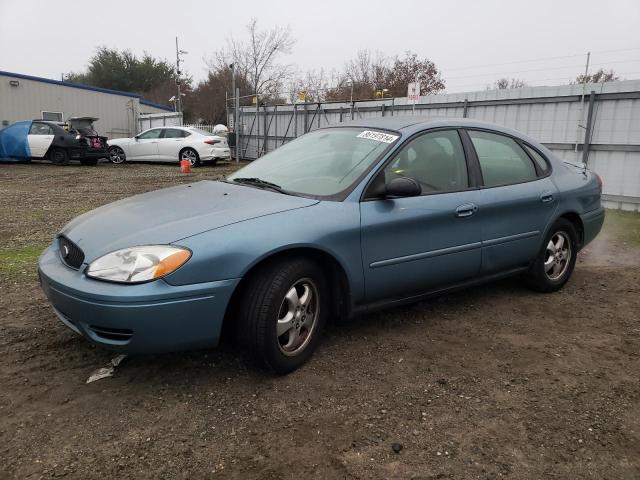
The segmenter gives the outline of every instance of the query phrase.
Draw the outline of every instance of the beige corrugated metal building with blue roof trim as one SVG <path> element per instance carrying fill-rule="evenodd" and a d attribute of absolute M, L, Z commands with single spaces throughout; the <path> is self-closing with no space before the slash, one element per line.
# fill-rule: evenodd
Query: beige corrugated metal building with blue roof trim
<path fill-rule="evenodd" d="M 173 109 L 140 95 L 48 78 L 0 71 L 0 128 L 20 120 L 98 117 L 95 127 L 109 138 L 137 133 L 138 116 Z"/>

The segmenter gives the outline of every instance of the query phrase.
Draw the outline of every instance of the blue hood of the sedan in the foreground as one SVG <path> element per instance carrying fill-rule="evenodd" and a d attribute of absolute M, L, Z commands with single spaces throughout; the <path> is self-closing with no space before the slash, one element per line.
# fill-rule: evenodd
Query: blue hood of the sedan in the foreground
<path fill-rule="evenodd" d="M 202 181 L 143 193 L 97 208 L 62 231 L 87 263 L 136 245 L 169 244 L 232 223 L 318 203 L 226 182 Z"/>

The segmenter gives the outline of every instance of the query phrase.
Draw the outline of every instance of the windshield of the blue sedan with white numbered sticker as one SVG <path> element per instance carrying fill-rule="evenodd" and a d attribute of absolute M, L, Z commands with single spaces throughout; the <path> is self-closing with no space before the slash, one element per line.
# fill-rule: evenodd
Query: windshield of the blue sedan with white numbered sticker
<path fill-rule="evenodd" d="M 316 130 L 253 161 L 227 180 L 255 185 L 258 180 L 289 193 L 329 197 L 348 189 L 399 137 L 366 128 Z"/>

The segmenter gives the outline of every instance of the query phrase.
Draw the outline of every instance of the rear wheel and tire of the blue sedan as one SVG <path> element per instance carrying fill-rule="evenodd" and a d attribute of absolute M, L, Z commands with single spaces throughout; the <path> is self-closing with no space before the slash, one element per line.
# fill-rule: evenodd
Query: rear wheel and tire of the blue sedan
<path fill-rule="evenodd" d="M 577 254 L 578 235 L 575 227 L 564 218 L 558 219 L 527 272 L 527 283 L 538 292 L 560 290 L 573 273 Z"/>

